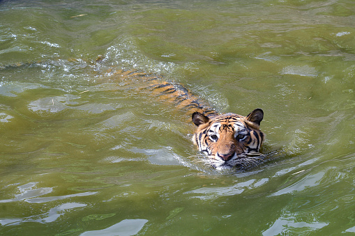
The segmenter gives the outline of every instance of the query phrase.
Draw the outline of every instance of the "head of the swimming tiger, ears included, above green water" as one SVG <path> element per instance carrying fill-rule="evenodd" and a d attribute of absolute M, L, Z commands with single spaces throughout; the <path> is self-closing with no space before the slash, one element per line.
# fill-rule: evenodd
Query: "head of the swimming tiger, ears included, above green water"
<path fill-rule="evenodd" d="M 262 109 L 255 109 L 248 116 L 226 113 L 207 117 L 195 112 L 192 122 L 197 130 L 192 141 L 214 168 L 255 164 L 255 157 L 251 156 L 259 153 L 264 141 L 264 134 L 259 129 L 263 117 Z"/>

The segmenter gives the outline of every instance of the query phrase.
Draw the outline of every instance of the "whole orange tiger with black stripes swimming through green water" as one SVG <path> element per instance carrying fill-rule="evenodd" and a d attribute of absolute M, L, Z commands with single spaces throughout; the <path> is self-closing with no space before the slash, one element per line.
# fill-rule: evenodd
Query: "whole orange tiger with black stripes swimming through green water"
<path fill-rule="evenodd" d="M 96 63 L 100 63 L 102 59 L 99 56 Z M 0 69 L 32 64 L 17 63 Z M 113 81 L 118 79 L 119 86 L 128 86 L 132 91 L 149 92 L 150 96 L 155 96 L 158 100 L 174 104 L 179 111 L 192 114 L 192 123 L 197 125 L 192 142 L 205 155 L 206 162 L 214 168 L 257 165 L 258 157 L 255 156 L 259 155 L 264 141 L 264 133 L 259 128 L 264 117 L 262 109 L 255 109 L 248 116 L 220 114 L 180 84 L 137 70 L 108 70 L 104 77 L 112 78 Z"/>

